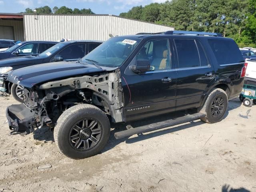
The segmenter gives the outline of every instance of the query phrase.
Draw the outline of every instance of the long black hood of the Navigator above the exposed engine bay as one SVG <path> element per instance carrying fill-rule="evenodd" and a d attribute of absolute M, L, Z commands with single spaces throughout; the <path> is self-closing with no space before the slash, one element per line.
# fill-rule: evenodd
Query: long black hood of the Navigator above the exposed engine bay
<path fill-rule="evenodd" d="M 76 62 L 52 62 L 13 70 L 7 80 L 21 86 L 32 88 L 34 85 L 93 72 L 103 72 L 104 69 Z"/>

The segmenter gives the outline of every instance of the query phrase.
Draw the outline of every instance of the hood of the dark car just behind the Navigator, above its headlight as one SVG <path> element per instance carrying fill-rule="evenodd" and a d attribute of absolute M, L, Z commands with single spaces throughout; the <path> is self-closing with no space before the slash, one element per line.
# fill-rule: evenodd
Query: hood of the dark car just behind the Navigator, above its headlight
<path fill-rule="evenodd" d="M 1 55 L 1 54 L 0 54 Z M 24 64 L 38 64 L 41 62 L 43 58 L 39 56 L 24 56 L 24 57 L 14 57 L 0 60 L 0 67 L 4 66 L 16 66 L 16 65 L 24 65 Z"/>

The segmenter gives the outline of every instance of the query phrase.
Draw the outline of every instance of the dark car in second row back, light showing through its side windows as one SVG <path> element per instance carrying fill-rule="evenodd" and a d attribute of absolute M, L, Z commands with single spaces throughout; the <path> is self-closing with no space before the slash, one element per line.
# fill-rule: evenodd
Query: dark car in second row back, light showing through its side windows
<path fill-rule="evenodd" d="M 24 41 L 5 51 L 0 51 L 0 60 L 18 56 L 38 55 L 58 42 L 53 41 Z"/>

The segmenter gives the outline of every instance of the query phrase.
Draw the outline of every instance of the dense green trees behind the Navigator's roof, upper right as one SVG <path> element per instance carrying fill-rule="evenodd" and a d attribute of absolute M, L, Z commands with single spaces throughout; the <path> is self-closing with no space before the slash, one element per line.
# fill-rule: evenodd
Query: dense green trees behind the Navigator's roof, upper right
<path fill-rule="evenodd" d="M 175 30 L 218 32 L 240 47 L 256 47 L 256 0 L 172 0 L 135 6 L 120 16 Z"/>

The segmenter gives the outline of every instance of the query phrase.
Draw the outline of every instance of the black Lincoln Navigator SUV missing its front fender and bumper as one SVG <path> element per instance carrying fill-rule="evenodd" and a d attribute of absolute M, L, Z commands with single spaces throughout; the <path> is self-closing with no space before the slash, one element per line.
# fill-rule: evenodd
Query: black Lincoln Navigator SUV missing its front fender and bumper
<path fill-rule="evenodd" d="M 187 114 L 116 132 L 124 138 L 201 119 L 224 118 L 239 96 L 244 59 L 230 38 L 216 33 L 167 31 L 110 38 L 77 63 L 40 64 L 14 70 L 10 82 L 24 87 L 24 104 L 6 110 L 11 134 L 44 125 L 74 159 L 104 148 L 114 123 L 178 110 Z M 192 109 L 192 110 L 188 110 Z"/>

